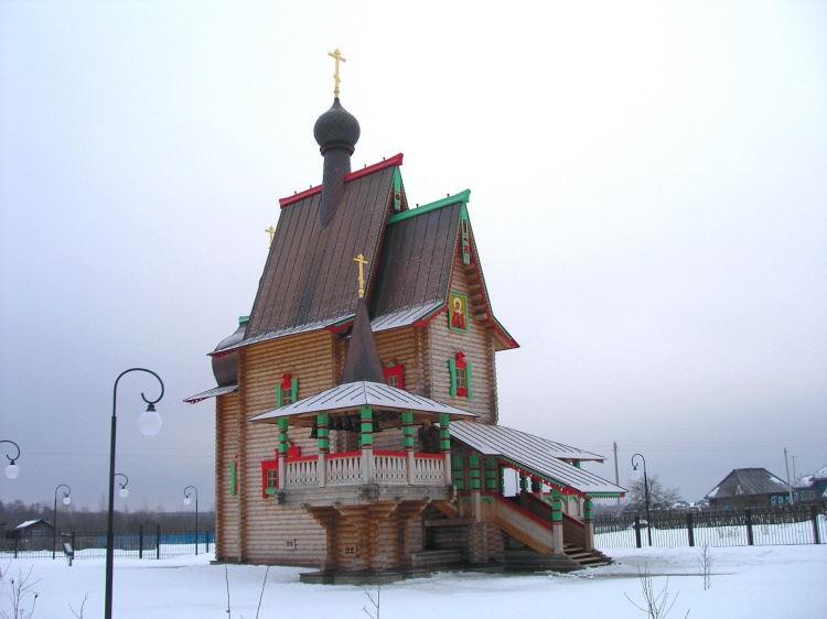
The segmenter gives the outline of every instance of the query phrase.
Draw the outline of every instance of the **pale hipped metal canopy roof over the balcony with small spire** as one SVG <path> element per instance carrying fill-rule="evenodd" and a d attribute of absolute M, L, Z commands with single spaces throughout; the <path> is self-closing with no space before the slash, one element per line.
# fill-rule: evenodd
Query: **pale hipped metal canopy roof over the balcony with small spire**
<path fill-rule="evenodd" d="M 370 406 L 376 412 L 410 411 L 414 413 L 415 423 L 437 422 L 442 414 L 447 414 L 451 422 L 480 416 L 388 384 L 361 380 L 340 384 L 287 406 L 256 415 L 248 421 L 277 423 L 280 417 L 291 417 L 290 422 L 293 425 L 310 426 L 315 422 L 316 413 L 353 413 L 363 406 Z"/>

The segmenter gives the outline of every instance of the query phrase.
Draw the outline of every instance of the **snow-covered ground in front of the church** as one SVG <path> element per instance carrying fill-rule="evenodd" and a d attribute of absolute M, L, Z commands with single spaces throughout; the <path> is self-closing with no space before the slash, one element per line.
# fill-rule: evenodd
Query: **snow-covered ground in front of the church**
<path fill-rule="evenodd" d="M 642 618 L 640 569 L 653 577 L 655 593 L 675 605 L 670 618 L 827 617 L 827 545 L 715 547 L 711 587 L 704 589 L 698 547 L 616 549 L 614 565 L 574 574 L 493 575 L 439 573 L 432 578 L 382 587 L 385 619 L 519 617 Z M 337 617 L 376 615 L 362 587 L 302 585 L 303 569 L 211 565 L 212 555 L 161 561 L 116 558 L 114 615 L 117 619 L 210 617 Z M 104 560 L 0 560 L 0 610 L 12 617 L 11 578 L 31 568 L 39 593 L 33 619 L 103 616 Z M 261 584 L 267 571 L 267 584 Z M 376 588 L 368 589 L 375 596 Z M 259 596 L 261 596 L 260 609 Z M 229 602 L 228 602 L 229 599 Z M 24 599 L 31 610 L 32 596 Z M 230 612 L 227 613 L 229 606 Z M 26 611 L 28 613 L 28 611 Z"/>

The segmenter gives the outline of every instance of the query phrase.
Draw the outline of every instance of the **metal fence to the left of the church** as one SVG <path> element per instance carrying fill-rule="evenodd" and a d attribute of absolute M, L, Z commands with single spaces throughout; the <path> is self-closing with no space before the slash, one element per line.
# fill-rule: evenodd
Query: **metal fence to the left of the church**
<path fill-rule="evenodd" d="M 206 554 L 214 550 L 215 533 L 200 531 L 162 531 L 155 524 L 141 526 L 135 533 L 116 533 L 115 556 L 131 558 L 169 558 Z M 51 535 L 17 535 L 0 540 L 0 557 L 103 558 L 106 533 L 61 533 L 52 546 Z"/>

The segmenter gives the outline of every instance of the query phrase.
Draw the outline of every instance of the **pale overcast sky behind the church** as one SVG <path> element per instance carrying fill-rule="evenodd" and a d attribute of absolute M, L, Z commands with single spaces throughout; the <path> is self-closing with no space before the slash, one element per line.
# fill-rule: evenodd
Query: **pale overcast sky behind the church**
<path fill-rule="evenodd" d="M 3 501 L 213 504 L 206 354 L 250 312 L 278 199 L 405 153 L 411 204 L 471 189 L 500 419 L 635 452 L 688 500 L 827 464 L 827 3 L 0 0 Z M 7 445 L 2 445 L 7 447 Z M 190 509 L 190 508 L 187 508 Z"/>

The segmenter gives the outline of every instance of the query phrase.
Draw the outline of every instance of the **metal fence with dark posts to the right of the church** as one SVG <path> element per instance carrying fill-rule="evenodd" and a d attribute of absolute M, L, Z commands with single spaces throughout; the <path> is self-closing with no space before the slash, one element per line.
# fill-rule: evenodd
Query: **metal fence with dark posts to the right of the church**
<path fill-rule="evenodd" d="M 594 518 L 599 549 L 821 544 L 827 503 L 767 509 L 653 511 Z"/>

